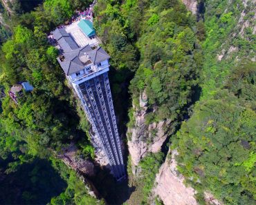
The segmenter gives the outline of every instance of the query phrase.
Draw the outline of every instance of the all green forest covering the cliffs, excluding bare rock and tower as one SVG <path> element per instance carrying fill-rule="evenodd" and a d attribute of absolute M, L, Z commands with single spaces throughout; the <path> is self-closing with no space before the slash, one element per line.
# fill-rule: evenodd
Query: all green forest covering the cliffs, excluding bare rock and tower
<path fill-rule="evenodd" d="M 76 101 L 55 60 L 57 50 L 46 40 L 47 32 L 89 1 L 46 0 L 35 10 L 14 2 L 11 21 L 6 13 L 3 15 L 9 27 L 0 27 L 1 43 L 12 33 L 3 43 L 0 59 L 0 84 L 7 95 L 1 101 L 0 116 L 4 171 L 12 177 L 24 164 L 40 167 L 37 157 L 50 158 L 66 183 L 48 195 L 47 199 L 54 196 L 51 204 L 98 203 L 75 172 L 51 157 L 49 151 L 60 151 L 75 141 L 84 157 L 93 158 L 93 148 L 84 133 L 88 124 L 81 110 L 72 111 Z M 241 0 L 198 2 L 205 6 L 200 10 L 205 13 L 196 18 L 179 0 L 98 0 L 94 25 L 111 56 L 117 115 L 125 127 L 127 107 L 131 106 L 128 85 L 135 109 L 139 109 L 139 97 L 145 92 L 147 125 L 165 119 L 170 119 L 172 130 L 181 125 L 171 136 L 171 148 L 179 151 L 179 171 L 196 188 L 199 203 L 205 203 L 203 193 L 209 191 L 224 204 L 254 204 L 253 1 L 246 5 Z M 246 24 L 249 26 L 242 29 Z M 24 92 L 15 104 L 8 90 L 25 80 L 35 89 Z M 134 109 L 129 117 L 128 126 L 133 126 Z M 141 203 L 147 204 L 161 163 L 163 153 L 149 153 L 140 162 L 136 185 L 141 188 Z M 26 176 L 26 187 L 42 176 L 44 172 Z M 37 191 L 22 191 L 22 202 L 34 203 L 42 197 Z"/>

